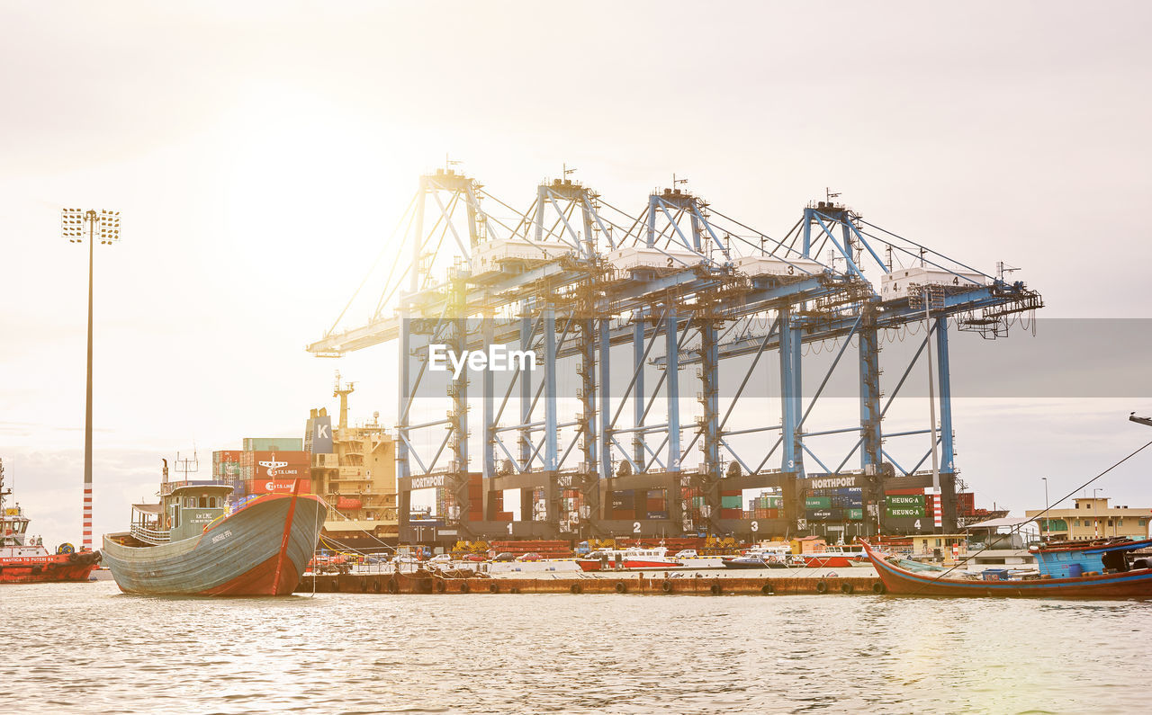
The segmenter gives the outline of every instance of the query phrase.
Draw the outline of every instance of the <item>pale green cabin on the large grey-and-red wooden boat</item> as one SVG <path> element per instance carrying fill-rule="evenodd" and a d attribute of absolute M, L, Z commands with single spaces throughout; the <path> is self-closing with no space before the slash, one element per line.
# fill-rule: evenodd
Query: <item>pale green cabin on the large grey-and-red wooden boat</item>
<path fill-rule="evenodd" d="M 132 504 L 131 534 L 146 543 L 183 541 L 228 511 L 232 486 L 219 481 L 173 482 L 158 504 Z"/>

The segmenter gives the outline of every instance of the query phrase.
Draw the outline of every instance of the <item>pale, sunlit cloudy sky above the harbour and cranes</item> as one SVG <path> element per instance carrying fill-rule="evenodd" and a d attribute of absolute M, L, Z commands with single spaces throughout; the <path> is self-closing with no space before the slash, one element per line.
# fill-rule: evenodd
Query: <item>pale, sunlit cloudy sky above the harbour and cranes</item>
<path fill-rule="evenodd" d="M 1137 2 L 6 2 L 9 485 L 32 532 L 78 540 L 88 246 L 60 238 L 61 207 L 123 216 L 122 241 L 96 246 L 98 534 L 154 493 L 161 457 L 195 449 L 206 470 L 244 436 L 301 433 L 310 408 L 334 406 L 336 368 L 357 382 L 354 420 L 393 424 L 392 348 L 323 360 L 304 345 L 446 155 L 520 207 L 567 165 L 637 214 L 675 173 L 776 234 L 831 187 L 986 273 L 1020 267 L 1045 318 L 1138 329 L 1150 15 Z M 1036 345 L 1038 360 L 1061 351 Z M 1101 341 L 1099 357 L 1116 350 Z M 1099 371 L 1083 353 L 1083 372 Z M 1152 435 L 1124 418 L 1152 411 L 1144 387 L 957 400 L 957 465 L 978 505 L 1034 508 L 1040 477 L 1055 497 L 1143 444 Z M 1150 465 L 1138 456 L 1093 486 L 1152 505 Z"/>

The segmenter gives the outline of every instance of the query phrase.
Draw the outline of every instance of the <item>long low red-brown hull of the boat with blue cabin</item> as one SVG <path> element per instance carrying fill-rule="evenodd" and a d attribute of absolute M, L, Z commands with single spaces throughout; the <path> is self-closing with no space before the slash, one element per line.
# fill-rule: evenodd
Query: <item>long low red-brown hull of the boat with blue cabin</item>
<path fill-rule="evenodd" d="M 889 563 L 865 545 L 865 552 L 876 566 L 888 593 L 897 595 L 961 596 L 961 598 L 1094 598 L 1123 599 L 1152 596 L 1152 569 L 1101 573 L 1077 578 L 1038 580 L 962 580 L 920 576 Z"/>

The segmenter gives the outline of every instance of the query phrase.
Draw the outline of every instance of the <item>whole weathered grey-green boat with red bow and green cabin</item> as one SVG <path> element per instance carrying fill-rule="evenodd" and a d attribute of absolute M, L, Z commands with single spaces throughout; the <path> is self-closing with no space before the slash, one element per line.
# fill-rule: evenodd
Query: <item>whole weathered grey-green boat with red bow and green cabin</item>
<path fill-rule="evenodd" d="M 124 593 L 288 595 L 320 538 L 327 507 L 300 493 L 265 494 L 228 511 L 232 486 L 168 481 L 160 502 L 132 504 L 129 531 L 104 537 L 104 563 Z"/>

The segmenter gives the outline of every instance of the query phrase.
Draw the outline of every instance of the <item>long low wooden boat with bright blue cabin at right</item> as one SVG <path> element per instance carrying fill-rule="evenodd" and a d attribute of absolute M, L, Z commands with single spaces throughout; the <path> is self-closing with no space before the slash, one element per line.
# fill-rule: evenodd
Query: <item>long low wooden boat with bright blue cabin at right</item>
<path fill-rule="evenodd" d="M 1152 556 L 1134 553 L 1146 548 L 1152 539 L 1047 543 L 1030 549 L 1039 564 L 1032 578 L 1013 578 L 1008 569 L 964 578 L 942 569 L 912 571 L 864 542 L 888 593 L 935 596 L 1152 598 Z"/>

